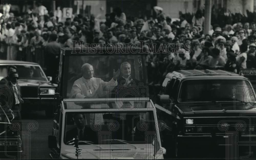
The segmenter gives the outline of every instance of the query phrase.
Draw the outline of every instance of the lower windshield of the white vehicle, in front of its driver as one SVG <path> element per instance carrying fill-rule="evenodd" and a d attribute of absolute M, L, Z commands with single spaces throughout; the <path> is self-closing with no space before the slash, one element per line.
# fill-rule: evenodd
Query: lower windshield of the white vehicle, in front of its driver
<path fill-rule="evenodd" d="M 149 144 L 156 136 L 155 124 L 153 111 L 67 112 L 64 142 L 78 138 L 84 145 Z"/>

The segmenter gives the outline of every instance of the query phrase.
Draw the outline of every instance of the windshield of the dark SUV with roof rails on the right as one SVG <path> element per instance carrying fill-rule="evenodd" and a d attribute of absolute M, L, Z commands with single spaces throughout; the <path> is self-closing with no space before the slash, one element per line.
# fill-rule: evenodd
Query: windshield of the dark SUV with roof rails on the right
<path fill-rule="evenodd" d="M 233 79 L 185 80 L 181 84 L 179 102 L 242 101 L 255 102 L 250 83 Z"/>

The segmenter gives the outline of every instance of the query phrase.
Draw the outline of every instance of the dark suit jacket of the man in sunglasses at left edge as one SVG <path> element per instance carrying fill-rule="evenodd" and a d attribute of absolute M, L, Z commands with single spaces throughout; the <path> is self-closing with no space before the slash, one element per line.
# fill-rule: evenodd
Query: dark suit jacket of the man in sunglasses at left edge
<path fill-rule="evenodd" d="M 19 89 L 18 84 L 17 84 L 17 88 Z M 14 94 L 14 90 L 12 88 L 12 82 L 8 76 L 1 79 L 0 92 L 5 93 L 5 94 L 0 95 L 1 105 L 2 106 L 8 105 L 8 109 L 15 110 L 15 97 L 14 97 L 15 94 Z M 19 92 L 18 94 L 20 95 L 20 90 L 18 92 Z M 20 103 L 22 103 L 22 102 L 23 102 L 23 100 L 20 97 Z M 4 107 L 4 108 L 7 109 L 6 107 Z"/>

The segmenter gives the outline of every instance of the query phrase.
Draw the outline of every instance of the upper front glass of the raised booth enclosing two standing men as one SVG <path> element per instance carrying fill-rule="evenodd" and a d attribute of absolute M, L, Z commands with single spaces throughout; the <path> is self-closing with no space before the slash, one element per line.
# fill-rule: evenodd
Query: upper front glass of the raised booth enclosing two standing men
<path fill-rule="evenodd" d="M 92 68 L 85 67 L 82 71 L 81 68 L 85 63 L 89 63 Z M 84 98 L 84 96 L 86 98 L 113 98 L 115 93 L 112 92 L 110 94 L 109 92 L 109 90 L 115 87 L 114 83 L 116 83 L 112 80 L 113 70 L 117 72 L 121 68 L 122 63 L 124 70 L 123 72 L 120 70 L 120 75 L 116 82 L 121 83 L 121 81 L 125 81 L 126 75 L 124 74 L 128 74 L 129 80 L 132 81 L 129 84 L 135 84 L 136 86 L 140 84 L 141 86 L 140 88 L 134 88 L 128 94 L 130 97 L 140 96 L 137 93 L 141 93 L 140 91 L 145 86 L 145 78 L 143 79 L 143 73 L 145 72 L 142 68 L 143 62 L 140 55 L 70 56 L 65 64 L 67 71 L 63 75 L 63 92 L 66 93 L 67 98 Z M 89 82 L 88 79 L 92 77 L 94 78 Z M 82 96 L 78 96 L 78 93 Z M 143 96 L 148 97 L 147 95 Z"/>

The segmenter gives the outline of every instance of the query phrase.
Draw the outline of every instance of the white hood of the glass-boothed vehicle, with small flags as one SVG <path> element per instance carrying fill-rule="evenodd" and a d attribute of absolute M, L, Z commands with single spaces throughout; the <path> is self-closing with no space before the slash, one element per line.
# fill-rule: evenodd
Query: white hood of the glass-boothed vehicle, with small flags
<path fill-rule="evenodd" d="M 86 149 L 83 146 L 79 146 L 82 151 L 78 159 L 154 159 L 154 146 L 150 144 L 146 147 L 145 145 L 136 145 L 137 149 L 130 145 L 111 145 L 109 147 L 104 145 L 102 147 L 104 150 L 101 151 L 97 147 L 95 149 Z M 63 150 L 61 156 L 77 159 L 75 150 L 76 148 L 74 146 L 70 146 L 69 149 Z M 157 154 L 157 159 L 162 158 L 162 154 Z"/>

